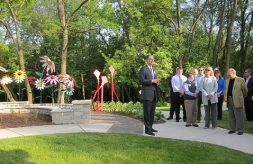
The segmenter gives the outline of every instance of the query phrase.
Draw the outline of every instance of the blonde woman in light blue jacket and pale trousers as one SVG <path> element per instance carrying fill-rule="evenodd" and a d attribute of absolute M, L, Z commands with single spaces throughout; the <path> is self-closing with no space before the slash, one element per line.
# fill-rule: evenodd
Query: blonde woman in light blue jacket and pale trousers
<path fill-rule="evenodd" d="M 216 128 L 218 85 L 216 78 L 213 76 L 212 67 L 208 67 L 205 69 L 205 76 L 200 82 L 200 90 L 202 92 L 202 102 L 205 107 L 205 128 L 209 128 L 210 120 L 212 120 L 212 128 Z"/>

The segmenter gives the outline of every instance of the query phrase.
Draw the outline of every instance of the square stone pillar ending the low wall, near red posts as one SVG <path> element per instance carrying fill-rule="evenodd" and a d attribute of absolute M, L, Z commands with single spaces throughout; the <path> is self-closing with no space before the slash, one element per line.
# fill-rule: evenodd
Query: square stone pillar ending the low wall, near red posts
<path fill-rule="evenodd" d="M 74 123 L 88 124 L 91 119 L 91 100 L 72 101 L 74 111 Z"/>

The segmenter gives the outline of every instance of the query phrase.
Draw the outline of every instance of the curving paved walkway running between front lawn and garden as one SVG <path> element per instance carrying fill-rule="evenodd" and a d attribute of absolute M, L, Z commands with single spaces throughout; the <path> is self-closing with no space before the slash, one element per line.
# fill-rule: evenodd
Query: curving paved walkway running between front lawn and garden
<path fill-rule="evenodd" d="M 164 112 L 165 117 L 168 112 Z M 158 130 L 155 137 L 190 140 L 221 145 L 227 148 L 253 154 L 253 135 L 243 134 L 238 136 L 228 134 L 228 130 L 222 128 L 204 129 L 204 123 L 200 127 L 185 127 L 185 122 L 167 121 L 163 124 L 155 124 Z M 77 133 L 77 132 L 101 132 L 101 133 L 135 133 L 143 134 L 142 122 L 121 115 L 92 113 L 90 124 L 44 125 L 32 127 L 19 127 L 0 129 L 0 138 L 13 138 L 20 136 Z"/>

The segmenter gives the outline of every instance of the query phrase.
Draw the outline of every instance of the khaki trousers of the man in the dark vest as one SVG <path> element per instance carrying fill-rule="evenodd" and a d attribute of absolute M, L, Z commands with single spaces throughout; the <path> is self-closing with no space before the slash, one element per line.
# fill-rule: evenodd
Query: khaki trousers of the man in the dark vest
<path fill-rule="evenodd" d="M 195 124 L 198 114 L 198 99 L 184 100 L 185 111 L 186 111 L 186 123 Z"/>

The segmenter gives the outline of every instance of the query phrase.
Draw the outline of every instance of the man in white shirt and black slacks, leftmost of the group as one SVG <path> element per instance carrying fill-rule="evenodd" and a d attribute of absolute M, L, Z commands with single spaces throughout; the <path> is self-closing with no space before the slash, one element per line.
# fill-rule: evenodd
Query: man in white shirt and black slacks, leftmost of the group
<path fill-rule="evenodd" d="M 174 110 L 176 113 L 176 121 L 180 120 L 180 105 L 183 107 L 183 120 L 186 121 L 186 112 L 184 107 L 184 89 L 183 84 L 187 80 L 187 78 L 183 75 L 183 68 L 176 68 L 176 75 L 174 75 L 171 79 L 171 85 L 173 89 L 173 93 L 171 96 L 171 103 L 174 104 Z"/>

